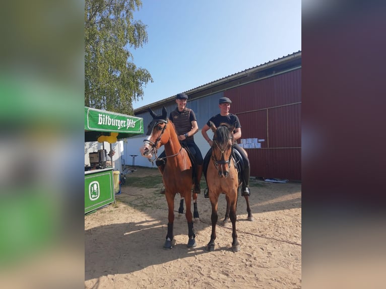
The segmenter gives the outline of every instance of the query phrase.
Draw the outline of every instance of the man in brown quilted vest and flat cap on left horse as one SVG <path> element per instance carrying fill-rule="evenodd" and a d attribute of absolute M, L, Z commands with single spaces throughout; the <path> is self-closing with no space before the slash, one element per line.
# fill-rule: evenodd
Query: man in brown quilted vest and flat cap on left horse
<path fill-rule="evenodd" d="M 200 181 L 203 174 L 203 156 L 193 136 L 199 131 L 199 126 L 197 124 L 195 112 L 189 108 L 186 108 L 186 101 L 186 94 L 179 93 L 176 95 L 175 102 L 177 103 L 177 107 L 175 110 L 170 112 L 169 120 L 174 124 L 178 140 L 185 144 L 190 153 L 195 157 L 196 178 L 193 192 L 199 194 L 201 193 Z M 165 151 L 159 156 L 159 159 L 164 157 L 166 157 Z M 166 158 L 164 160 L 166 160 Z M 156 161 L 156 165 L 158 166 L 161 173 L 163 173 L 163 169 L 165 168 L 164 161 L 158 160 Z"/>

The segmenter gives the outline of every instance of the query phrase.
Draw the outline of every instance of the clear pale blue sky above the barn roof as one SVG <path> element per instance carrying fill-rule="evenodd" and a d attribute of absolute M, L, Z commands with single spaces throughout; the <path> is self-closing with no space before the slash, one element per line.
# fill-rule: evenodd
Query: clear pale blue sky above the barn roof
<path fill-rule="evenodd" d="M 130 51 L 154 82 L 134 109 L 301 50 L 301 0 L 143 0 L 148 43 Z"/>

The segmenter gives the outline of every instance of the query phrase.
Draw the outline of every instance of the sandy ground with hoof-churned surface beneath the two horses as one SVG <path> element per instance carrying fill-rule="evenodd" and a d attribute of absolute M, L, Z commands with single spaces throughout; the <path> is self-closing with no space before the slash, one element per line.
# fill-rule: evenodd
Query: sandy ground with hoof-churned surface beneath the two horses
<path fill-rule="evenodd" d="M 131 176 L 159 175 L 137 168 Z M 219 201 L 216 249 L 206 251 L 211 235 L 211 205 L 198 197 L 197 247 L 188 249 L 187 224 L 175 199 L 171 250 L 164 250 L 167 203 L 159 187 L 126 185 L 116 203 L 85 215 L 85 288 L 301 288 L 301 184 L 251 180 L 250 207 L 239 197 L 236 228 L 241 244 L 231 250 L 231 224 L 222 224 L 225 196 Z M 202 192 L 204 190 L 202 189 Z"/>

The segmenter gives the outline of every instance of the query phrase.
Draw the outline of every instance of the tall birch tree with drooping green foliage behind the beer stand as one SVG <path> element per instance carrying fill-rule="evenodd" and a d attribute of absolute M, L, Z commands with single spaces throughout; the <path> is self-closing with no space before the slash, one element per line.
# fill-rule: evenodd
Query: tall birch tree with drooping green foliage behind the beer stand
<path fill-rule="evenodd" d="M 85 1 L 85 106 L 133 114 L 133 100 L 153 79 L 127 49 L 148 41 L 147 25 L 135 21 L 141 0 Z"/>

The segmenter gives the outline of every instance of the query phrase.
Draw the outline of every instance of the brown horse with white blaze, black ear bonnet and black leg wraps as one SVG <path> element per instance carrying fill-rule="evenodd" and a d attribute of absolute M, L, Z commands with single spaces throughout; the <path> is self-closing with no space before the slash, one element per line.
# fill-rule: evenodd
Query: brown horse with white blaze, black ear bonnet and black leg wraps
<path fill-rule="evenodd" d="M 184 198 L 186 204 L 185 216 L 189 237 L 187 247 L 196 247 L 196 234 L 193 228 L 190 208 L 192 198 L 191 188 L 193 185 L 190 159 L 177 138 L 173 123 L 167 118 L 165 107 L 162 109 L 162 115 L 156 115 L 150 108 L 149 112 L 153 117 L 153 120 L 148 126 L 148 138 L 144 140 L 144 146 L 140 148 L 140 152 L 142 156 L 151 160 L 153 154 L 155 158 L 157 158 L 157 150 L 161 146 L 165 146 L 167 162 L 162 178 L 165 186 L 165 197 L 168 204 L 168 225 L 164 248 L 171 249 L 175 245 L 173 223 L 174 197 L 177 193 Z M 195 206 L 195 209 L 196 208 L 197 207 Z"/>

